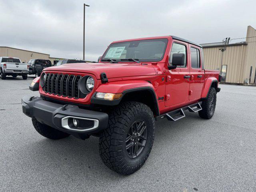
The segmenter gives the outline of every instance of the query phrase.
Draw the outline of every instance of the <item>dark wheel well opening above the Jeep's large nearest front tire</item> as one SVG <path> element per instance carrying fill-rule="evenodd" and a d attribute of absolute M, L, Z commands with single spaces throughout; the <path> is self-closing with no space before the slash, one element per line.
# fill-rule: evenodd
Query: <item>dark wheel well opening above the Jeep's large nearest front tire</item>
<path fill-rule="evenodd" d="M 121 100 L 121 102 L 126 102 L 126 101 L 135 101 L 135 102 L 143 103 L 150 107 L 154 116 L 159 115 L 156 96 L 150 90 L 138 90 L 138 91 L 128 92 L 123 96 Z"/>

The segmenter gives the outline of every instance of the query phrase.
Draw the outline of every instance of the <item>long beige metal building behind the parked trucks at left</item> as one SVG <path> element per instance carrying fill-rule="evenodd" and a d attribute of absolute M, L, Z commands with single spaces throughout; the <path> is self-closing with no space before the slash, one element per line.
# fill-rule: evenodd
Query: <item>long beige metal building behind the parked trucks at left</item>
<path fill-rule="evenodd" d="M 23 49 L 17 49 L 12 47 L 2 47 L 0 46 L 0 57 L 18 57 L 21 62 L 27 63 L 30 59 L 48 59 L 54 65 L 59 60 L 64 58 L 50 57 L 49 54 L 39 53 L 34 51 L 28 51 Z"/>

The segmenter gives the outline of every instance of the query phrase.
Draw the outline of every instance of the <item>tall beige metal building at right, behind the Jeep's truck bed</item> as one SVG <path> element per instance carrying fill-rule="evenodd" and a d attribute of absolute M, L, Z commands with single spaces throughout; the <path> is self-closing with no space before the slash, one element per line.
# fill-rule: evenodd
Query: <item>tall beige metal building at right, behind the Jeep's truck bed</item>
<path fill-rule="evenodd" d="M 235 84 L 256 83 L 256 30 L 248 26 L 246 41 L 201 44 L 206 69 L 220 70 L 222 81 Z"/>

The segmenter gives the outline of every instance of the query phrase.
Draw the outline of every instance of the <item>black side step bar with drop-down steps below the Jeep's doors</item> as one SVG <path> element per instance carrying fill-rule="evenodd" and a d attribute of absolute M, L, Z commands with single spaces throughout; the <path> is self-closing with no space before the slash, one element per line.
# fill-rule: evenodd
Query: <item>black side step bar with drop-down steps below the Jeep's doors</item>
<path fill-rule="evenodd" d="M 202 102 L 198 102 L 198 103 L 194 103 L 194 104 L 191 104 L 188 106 L 184 106 L 179 109 L 172 110 L 170 112 L 167 112 L 165 114 L 162 114 L 162 115 L 156 117 L 156 120 L 162 119 L 162 118 L 167 118 L 169 121 L 177 121 L 177 120 L 185 117 L 185 114 L 184 114 L 185 110 L 189 110 L 190 112 L 194 112 L 194 113 L 202 110 L 201 104 L 202 104 Z"/>

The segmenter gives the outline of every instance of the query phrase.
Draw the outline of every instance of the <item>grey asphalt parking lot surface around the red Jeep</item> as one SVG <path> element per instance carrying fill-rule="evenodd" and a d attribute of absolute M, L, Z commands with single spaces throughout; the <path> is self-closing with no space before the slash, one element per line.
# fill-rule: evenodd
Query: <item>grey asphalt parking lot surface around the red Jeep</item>
<path fill-rule="evenodd" d="M 148 160 L 122 176 L 100 160 L 98 138 L 34 130 L 21 108 L 22 96 L 38 96 L 32 80 L 0 79 L 0 191 L 256 191 L 256 87 L 221 84 L 210 120 L 156 122 Z"/>

